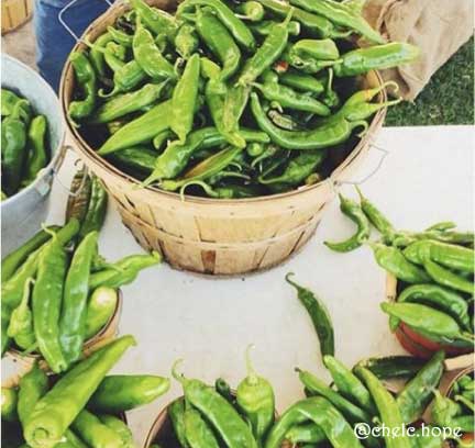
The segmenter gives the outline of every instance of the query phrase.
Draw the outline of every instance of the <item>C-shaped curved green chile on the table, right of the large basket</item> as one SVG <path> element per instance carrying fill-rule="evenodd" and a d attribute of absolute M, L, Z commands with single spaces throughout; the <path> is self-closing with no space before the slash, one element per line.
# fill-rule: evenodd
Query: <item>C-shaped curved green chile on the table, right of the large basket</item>
<path fill-rule="evenodd" d="M 344 242 L 324 242 L 324 245 L 332 250 L 346 253 L 361 247 L 369 238 L 369 221 L 357 202 L 344 198 L 342 194 L 339 194 L 339 197 L 340 210 L 357 225 L 357 231 Z"/>

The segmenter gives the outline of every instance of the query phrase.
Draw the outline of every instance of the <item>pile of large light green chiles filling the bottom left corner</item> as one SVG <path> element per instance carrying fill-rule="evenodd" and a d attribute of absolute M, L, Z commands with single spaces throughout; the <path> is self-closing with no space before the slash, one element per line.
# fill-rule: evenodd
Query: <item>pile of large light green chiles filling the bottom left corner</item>
<path fill-rule="evenodd" d="M 1 390 L 5 448 L 135 448 L 125 411 L 151 403 L 170 382 L 158 376 L 108 376 L 132 336 L 122 336 L 62 376 L 37 363 L 18 387 Z"/>

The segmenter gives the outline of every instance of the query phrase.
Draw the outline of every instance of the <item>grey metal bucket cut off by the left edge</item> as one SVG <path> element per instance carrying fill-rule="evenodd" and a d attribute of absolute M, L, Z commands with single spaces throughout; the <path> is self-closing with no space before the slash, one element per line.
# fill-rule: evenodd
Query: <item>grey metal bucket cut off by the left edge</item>
<path fill-rule="evenodd" d="M 35 113 L 46 115 L 49 164 L 36 180 L 1 202 L 2 258 L 16 249 L 46 220 L 54 173 L 63 161 L 65 126 L 56 93 L 30 67 L 8 55 L 1 55 L 2 88 L 8 88 L 30 101 Z"/>

